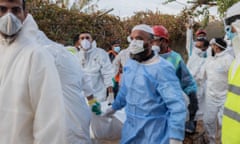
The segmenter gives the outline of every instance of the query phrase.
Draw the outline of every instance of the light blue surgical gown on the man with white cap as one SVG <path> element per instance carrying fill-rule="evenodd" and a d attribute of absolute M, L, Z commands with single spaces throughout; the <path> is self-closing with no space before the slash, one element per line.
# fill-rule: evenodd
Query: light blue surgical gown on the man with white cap
<path fill-rule="evenodd" d="M 186 106 L 174 67 L 163 58 L 154 64 L 128 60 L 112 105 L 125 107 L 121 144 L 168 144 L 184 139 Z"/>

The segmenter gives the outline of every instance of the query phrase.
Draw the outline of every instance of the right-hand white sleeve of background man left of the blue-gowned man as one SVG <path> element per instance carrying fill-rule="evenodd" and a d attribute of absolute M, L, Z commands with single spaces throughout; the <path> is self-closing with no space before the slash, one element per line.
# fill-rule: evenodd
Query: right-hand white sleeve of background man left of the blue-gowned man
<path fill-rule="evenodd" d="M 101 59 L 101 74 L 103 77 L 105 87 L 112 86 L 112 78 L 114 77 L 114 69 L 113 65 L 109 59 L 108 53 L 103 51 L 102 52 L 102 59 Z"/>

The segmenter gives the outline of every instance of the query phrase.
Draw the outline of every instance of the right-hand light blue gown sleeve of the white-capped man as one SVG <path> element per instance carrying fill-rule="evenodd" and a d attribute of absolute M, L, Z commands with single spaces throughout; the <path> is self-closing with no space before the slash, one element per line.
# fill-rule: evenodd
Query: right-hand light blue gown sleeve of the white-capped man
<path fill-rule="evenodd" d="M 163 84 L 159 84 L 157 91 L 163 98 L 169 112 L 168 129 L 169 138 L 176 140 L 184 139 L 186 106 L 182 95 L 178 78 L 175 75 L 174 68 L 164 68 L 167 73 Z"/>

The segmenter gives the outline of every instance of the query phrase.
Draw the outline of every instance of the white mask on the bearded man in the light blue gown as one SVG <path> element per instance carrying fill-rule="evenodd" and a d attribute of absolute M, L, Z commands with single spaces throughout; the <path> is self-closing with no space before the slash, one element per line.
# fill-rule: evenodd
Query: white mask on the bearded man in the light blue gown
<path fill-rule="evenodd" d="M 144 41 L 143 40 L 132 40 L 129 45 L 129 51 L 132 54 L 138 54 L 144 51 Z"/>

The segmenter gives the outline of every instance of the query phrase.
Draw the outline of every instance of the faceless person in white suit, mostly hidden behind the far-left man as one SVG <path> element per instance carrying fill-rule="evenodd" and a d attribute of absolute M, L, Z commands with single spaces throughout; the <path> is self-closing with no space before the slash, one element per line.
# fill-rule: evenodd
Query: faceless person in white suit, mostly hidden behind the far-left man
<path fill-rule="evenodd" d="M 36 40 L 41 48 L 49 51 L 55 59 L 65 102 L 67 143 L 89 144 L 91 115 L 85 97 L 90 97 L 93 93 L 91 80 L 84 76 L 77 59 L 71 53 L 62 45 L 48 39 L 38 29 L 30 14 L 27 15 L 23 24 L 28 30 L 25 34 Z"/>

